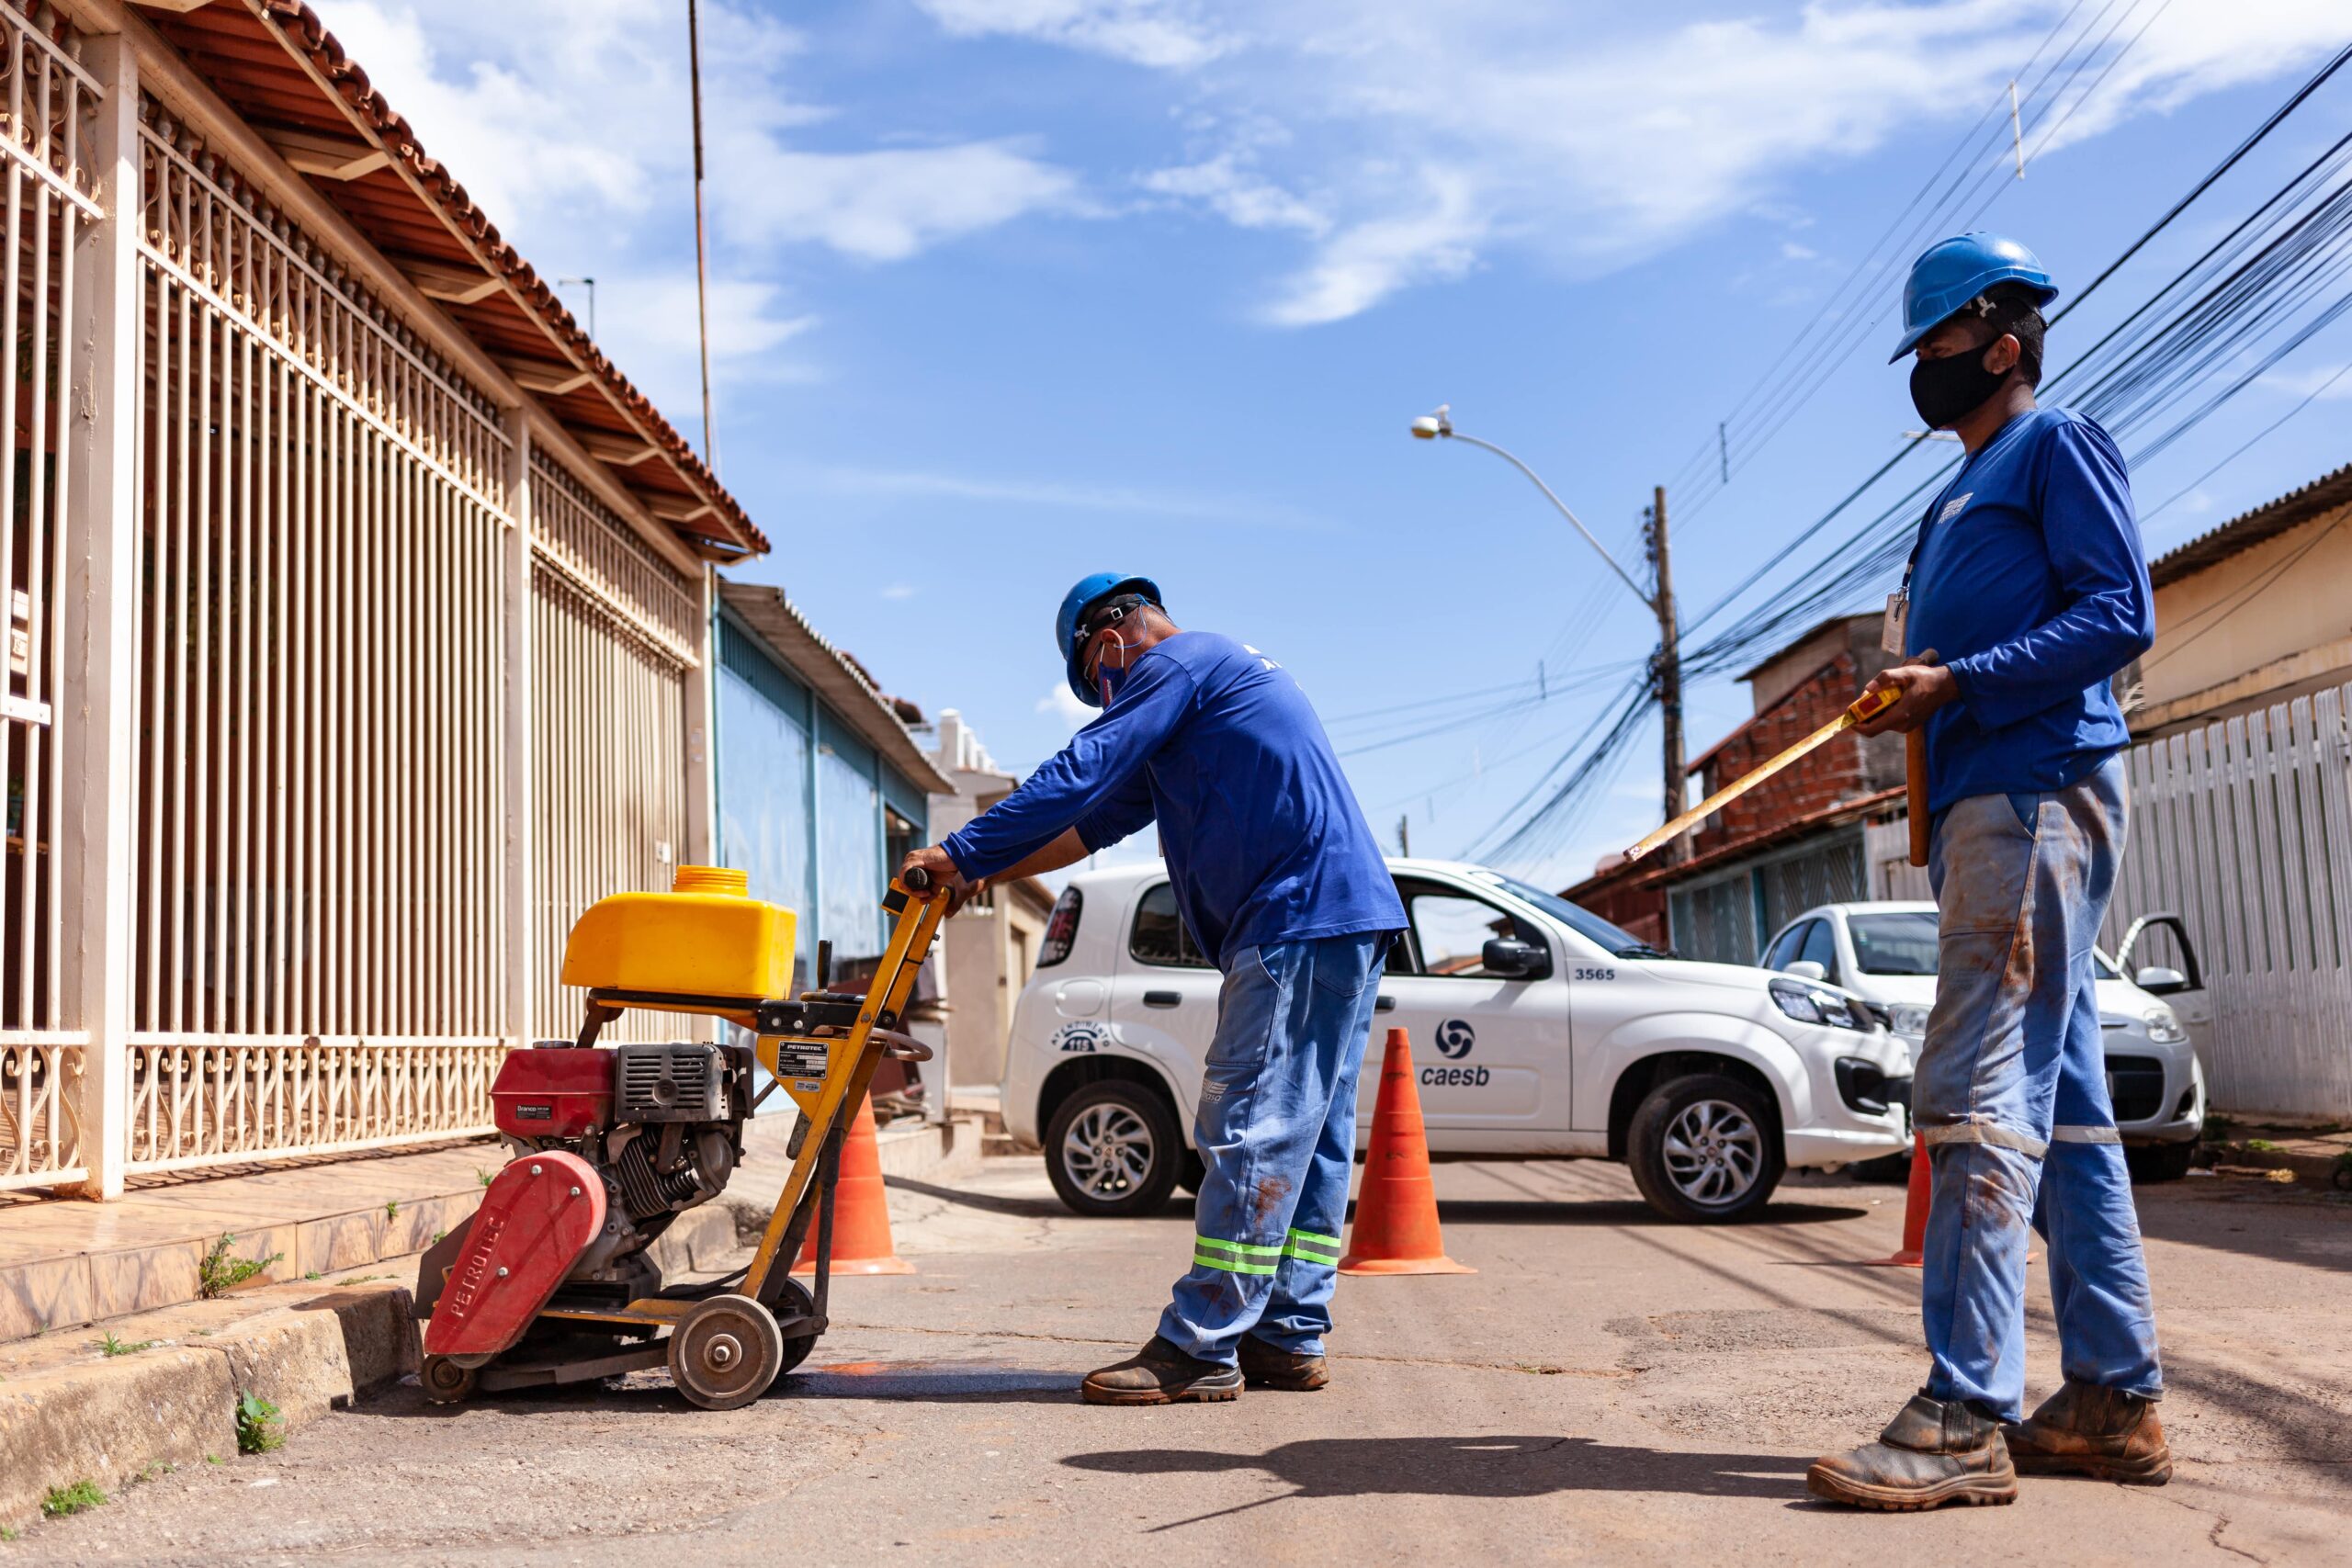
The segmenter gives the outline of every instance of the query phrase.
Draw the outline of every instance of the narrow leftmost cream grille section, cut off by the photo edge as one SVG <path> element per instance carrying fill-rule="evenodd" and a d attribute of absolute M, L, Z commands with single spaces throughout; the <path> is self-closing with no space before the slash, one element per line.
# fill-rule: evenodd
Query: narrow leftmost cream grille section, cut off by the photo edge
<path fill-rule="evenodd" d="M 47 7 L 42 7 L 47 9 Z M 7 682 L 0 686 L 0 755 L 7 759 L 7 853 L 0 860 L 0 1190 L 73 1180 L 80 1147 L 80 1018 L 66 1016 L 59 985 L 59 686 L 56 607 L 64 599 L 73 498 L 68 449 L 78 433 L 75 256 L 85 226 L 103 216 L 96 176 L 82 167 L 82 129 L 99 87 L 71 52 L 64 24 L 28 26 L 0 7 L 0 68 L 7 73 L 0 169 L 7 169 L 0 282 L 0 339 L 12 374 L 0 376 L 0 430 L 12 435 L 0 465 L 0 607 L 7 614 Z"/>

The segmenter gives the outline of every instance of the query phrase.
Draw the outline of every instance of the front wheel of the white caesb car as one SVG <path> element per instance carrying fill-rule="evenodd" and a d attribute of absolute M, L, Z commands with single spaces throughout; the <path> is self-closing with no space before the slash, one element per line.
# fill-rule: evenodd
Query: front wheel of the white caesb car
<path fill-rule="evenodd" d="M 1682 1225 L 1733 1225 L 1764 1211 L 1788 1159 L 1764 1095 L 1719 1072 L 1649 1091 L 1625 1133 L 1642 1201 Z"/>

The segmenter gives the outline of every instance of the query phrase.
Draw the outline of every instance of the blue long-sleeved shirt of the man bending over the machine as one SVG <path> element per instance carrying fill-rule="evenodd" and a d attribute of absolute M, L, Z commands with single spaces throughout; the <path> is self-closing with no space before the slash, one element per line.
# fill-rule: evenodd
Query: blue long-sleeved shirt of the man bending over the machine
<path fill-rule="evenodd" d="M 993 877 L 1068 827 L 1096 851 L 1152 820 L 1176 910 L 1221 969 L 1268 943 L 1404 929 L 1298 682 L 1214 632 L 1145 649 L 1103 717 L 943 849 L 964 877 Z"/>

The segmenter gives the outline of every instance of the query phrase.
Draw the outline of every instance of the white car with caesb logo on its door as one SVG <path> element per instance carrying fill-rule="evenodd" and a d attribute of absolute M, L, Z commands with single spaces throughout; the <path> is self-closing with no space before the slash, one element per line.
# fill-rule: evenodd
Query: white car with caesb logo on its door
<path fill-rule="evenodd" d="M 1853 997 L 1672 959 L 1477 865 L 1388 865 L 1411 924 L 1381 978 L 1357 1147 L 1395 1025 L 1432 1154 L 1623 1159 L 1675 1220 L 1740 1220 L 1788 1166 L 1905 1147 L 1893 1079 L 1910 1056 Z M 1218 980 L 1164 867 L 1082 872 L 1061 893 L 1014 1011 L 1004 1121 L 1044 1145 L 1073 1211 L 1145 1213 L 1197 1185 Z"/>

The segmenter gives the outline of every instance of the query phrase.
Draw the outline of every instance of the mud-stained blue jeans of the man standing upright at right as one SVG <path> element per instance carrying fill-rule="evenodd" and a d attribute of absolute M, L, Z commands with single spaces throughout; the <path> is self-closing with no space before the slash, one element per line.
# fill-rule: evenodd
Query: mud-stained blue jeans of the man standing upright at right
<path fill-rule="evenodd" d="M 2091 945 L 2124 851 L 2124 764 L 1936 823 L 1936 1006 L 1912 1114 L 1936 1178 L 1926 1392 L 2025 1406 L 2025 1227 L 2049 1244 L 2063 1373 L 2164 1392 L 2147 1260 L 2114 1133 Z"/>

